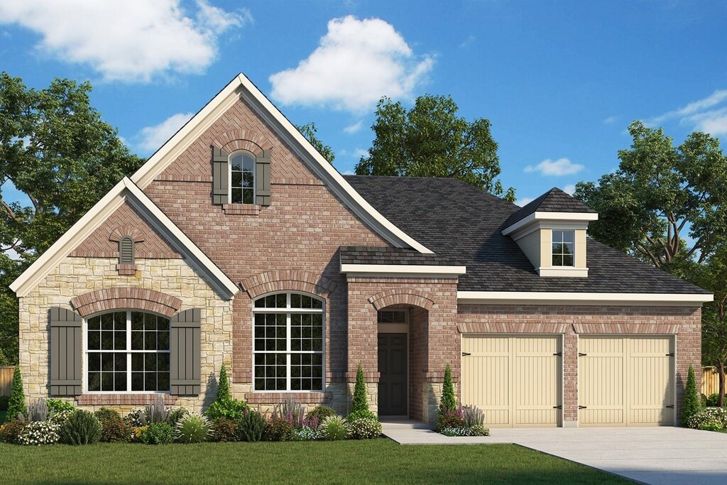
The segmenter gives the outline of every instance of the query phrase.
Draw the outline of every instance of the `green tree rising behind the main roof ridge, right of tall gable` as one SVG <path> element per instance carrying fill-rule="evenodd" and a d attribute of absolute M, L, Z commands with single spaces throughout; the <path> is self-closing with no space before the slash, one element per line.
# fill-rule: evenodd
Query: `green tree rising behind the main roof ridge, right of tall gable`
<path fill-rule="evenodd" d="M 376 137 L 356 174 L 456 178 L 515 201 L 513 188 L 503 191 L 496 180 L 500 167 L 489 120 L 470 122 L 457 111 L 449 96 L 419 96 L 409 111 L 382 97 L 371 127 Z"/>

